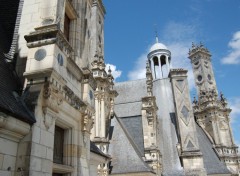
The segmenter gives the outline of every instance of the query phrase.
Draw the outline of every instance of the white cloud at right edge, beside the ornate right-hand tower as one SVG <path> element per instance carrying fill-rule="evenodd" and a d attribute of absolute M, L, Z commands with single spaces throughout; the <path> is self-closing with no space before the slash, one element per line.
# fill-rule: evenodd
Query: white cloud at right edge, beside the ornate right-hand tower
<path fill-rule="evenodd" d="M 223 64 L 240 64 L 240 31 L 233 34 L 228 46 L 231 48 L 230 53 L 222 58 L 221 62 Z"/>

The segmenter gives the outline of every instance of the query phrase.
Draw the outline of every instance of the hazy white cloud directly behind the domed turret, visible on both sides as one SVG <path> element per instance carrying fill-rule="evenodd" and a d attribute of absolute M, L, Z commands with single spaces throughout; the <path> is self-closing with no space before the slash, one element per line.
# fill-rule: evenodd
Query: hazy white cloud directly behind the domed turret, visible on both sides
<path fill-rule="evenodd" d="M 163 32 L 164 41 L 160 42 L 167 45 L 168 49 L 172 53 L 172 68 L 184 68 L 188 70 L 188 81 L 190 90 L 193 90 L 195 87 L 194 76 L 192 72 L 192 67 L 190 60 L 188 59 L 188 51 L 191 46 L 192 41 L 195 41 L 195 30 L 194 25 L 170 22 Z M 145 78 L 146 74 L 146 60 L 147 54 L 149 51 L 143 52 L 137 59 L 135 67 L 132 71 L 128 73 L 128 78 L 130 80 L 136 80 Z"/>

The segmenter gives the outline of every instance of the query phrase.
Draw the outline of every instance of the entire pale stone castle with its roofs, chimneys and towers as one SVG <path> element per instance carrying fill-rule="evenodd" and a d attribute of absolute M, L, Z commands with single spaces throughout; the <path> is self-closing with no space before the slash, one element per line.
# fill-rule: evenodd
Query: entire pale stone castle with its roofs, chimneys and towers
<path fill-rule="evenodd" d="M 172 68 L 156 38 L 146 78 L 115 83 L 102 0 L 3 0 L 0 176 L 239 175 L 240 156 L 211 54 Z M 107 70 L 107 71 L 106 71 Z"/>

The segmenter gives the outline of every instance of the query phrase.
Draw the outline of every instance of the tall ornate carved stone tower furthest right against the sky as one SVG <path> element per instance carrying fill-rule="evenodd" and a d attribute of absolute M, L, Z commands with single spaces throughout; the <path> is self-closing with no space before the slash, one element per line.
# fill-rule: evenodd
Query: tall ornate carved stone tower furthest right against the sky
<path fill-rule="evenodd" d="M 193 102 L 194 116 L 211 139 L 221 161 L 225 162 L 231 172 L 237 173 L 239 157 L 230 127 L 231 109 L 222 93 L 218 97 L 211 54 L 201 43 L 197 46 L 192 44 L 189 59 L 198 93 L 198 101 L 194 99 Z"/>

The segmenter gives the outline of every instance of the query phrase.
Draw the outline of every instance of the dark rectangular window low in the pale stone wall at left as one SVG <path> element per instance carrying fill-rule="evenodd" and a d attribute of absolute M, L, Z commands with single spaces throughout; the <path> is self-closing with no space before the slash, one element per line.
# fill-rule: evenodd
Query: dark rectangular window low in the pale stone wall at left
<path fill-rule="evenodd" d="M 55 126 L 53 162 L 63 164 L 64 129 Z"/>

